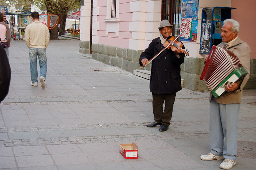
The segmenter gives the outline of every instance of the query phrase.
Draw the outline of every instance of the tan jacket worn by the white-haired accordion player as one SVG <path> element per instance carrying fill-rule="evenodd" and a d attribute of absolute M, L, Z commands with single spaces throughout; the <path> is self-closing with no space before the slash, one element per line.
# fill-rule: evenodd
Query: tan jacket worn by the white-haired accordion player
<path fill-rule="evenodd" d="M 241 43 L 241 44 L 239 44 Z M 235 104 L 235 103 L 241 103 L 242 98 L 242 92 L 244 85 L 250 78 L 250 56 L 251 56 L 251 49 L 250 47 L 244 43 L 242 40 L 239 39 L 239 37 L 236 39 L 236 41 L 231 45 L 234 46 L 236 44 L 236 47 L 230 48 L 229 51 L 233 52 L 236 57 L 240 60 L 241 64 L 244 66 L 244 68 L 247 70 L 248 74 L 244 77 L 244 80 L 240 86 L 240 89 L 237 89 L 232 92 L 228 92 L 226 95 L 220 98 L 215 98 L 215 100 L 219 104 Z M 225 45 L 224 42 L 220 43 L 218 46 L 223 48 Z M 212 93 L 210 94 L 210 101 L 212 98 Z"/>

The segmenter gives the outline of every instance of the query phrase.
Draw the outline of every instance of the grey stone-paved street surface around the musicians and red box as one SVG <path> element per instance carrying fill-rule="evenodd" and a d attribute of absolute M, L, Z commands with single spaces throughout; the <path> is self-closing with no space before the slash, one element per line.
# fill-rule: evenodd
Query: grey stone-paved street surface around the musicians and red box
<path fill-rule="evenodd" d="M 209 92 L 182 89 L 169 129 L 147 128 L 154 119 L 149 81 L 78 48 L 75 39 L 50 42 L 42 89 L 30 86 L 25 42 L 11 42 L 11 87 L 0 106 L 0 169 L 219 169 L 221 161 L 199 158 L 210 151 Z M 256 90 L 244 90 L 232 169 L 255 169 L 255 96 Z M 132 142 L 139 157 L 124 159 L 119 144 Z"/>

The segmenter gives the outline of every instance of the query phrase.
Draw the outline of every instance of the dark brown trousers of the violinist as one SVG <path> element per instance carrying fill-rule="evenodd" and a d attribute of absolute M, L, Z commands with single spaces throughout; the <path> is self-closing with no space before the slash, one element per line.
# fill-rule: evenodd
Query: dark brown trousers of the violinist
<path fill-rule="evenodd" d="M 176 97 L 176 93 L 173 94 L 154 94 L 153 96 L 153 113 L 154 113 L 154 119 L 157 123 L 162 123 L 164 125 L 169 126 L 170 121 L 172 119 L 172 109 L 174 100 Z M 163 104 L 164 106 L 164 112 L 163 112 Z"/>

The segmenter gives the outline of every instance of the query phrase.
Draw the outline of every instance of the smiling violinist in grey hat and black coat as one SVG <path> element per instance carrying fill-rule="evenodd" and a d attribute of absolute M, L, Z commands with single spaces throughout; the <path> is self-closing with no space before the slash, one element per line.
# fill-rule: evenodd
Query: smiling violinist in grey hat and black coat
<path fill-rule="evenodd" d="M 161 35 L 152 40 L 140 55 L 140 66 L 146 66 L 151 58 L 165 48 L 165 42 L 172 36 L 172 25 L 168 20 L 162 20 L 158 29 Z M 184 52 L 184 45 L 176 50 L 165 48 L 152 61 L 149 88 L 153 96 L 154 121 L 147 127 L 161 125 L 159 131 L 166 131 L 170 125 L 176 92 L 181 90 L 180 65 L 184 62 Z"/>

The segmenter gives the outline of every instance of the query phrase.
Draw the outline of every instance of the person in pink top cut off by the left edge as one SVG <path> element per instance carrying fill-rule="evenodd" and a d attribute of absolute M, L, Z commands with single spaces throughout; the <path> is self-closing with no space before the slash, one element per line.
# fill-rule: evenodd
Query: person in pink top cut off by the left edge
<path fill-rule="evenodd" d="M 0 12 L 0 38 L 1 38 L 0 43 L 3 43 L 3 42 L 7 43 L 7 46 L 6 47 L 3 46 L 3 47 L 6 52 L 7 58 L 9 60 L 9 47 L 11 43 L 10 28 L 3 21 L 4 21 L 4 14 Z M 7 40 L 6 40 L 6 37 L 7 37 Z"/>

